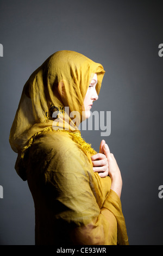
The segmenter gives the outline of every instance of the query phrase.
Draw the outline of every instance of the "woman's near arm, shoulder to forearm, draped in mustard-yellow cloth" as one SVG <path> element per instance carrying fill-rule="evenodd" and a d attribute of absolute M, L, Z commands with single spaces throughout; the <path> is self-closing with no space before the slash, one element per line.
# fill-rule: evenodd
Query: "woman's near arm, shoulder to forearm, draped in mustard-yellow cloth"
<path fill-rule="evenodd" d="M 114 191 L 109 192 L 110 178 L 102 182 L 78 144 L 62 133 L 54 141 L 47 135 L 34 144 L 30 188 L 39 209 L 43 205 L 49 208 L 46 212 L 52 219 L 47 220 L 59 241 L 66 236 L 74 245 L 116 245 L 118 237 L 124 234 L 120 243 L 127 244 L 120 198 Z M 63 223 L 59 226 L 60 235 L 52 223 Z"/>

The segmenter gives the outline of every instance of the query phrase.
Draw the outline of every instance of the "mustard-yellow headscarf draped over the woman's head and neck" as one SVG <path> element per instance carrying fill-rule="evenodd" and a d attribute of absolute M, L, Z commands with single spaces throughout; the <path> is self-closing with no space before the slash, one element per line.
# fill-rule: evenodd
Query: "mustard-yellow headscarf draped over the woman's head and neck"
<path fill-rule="evenodd" d="M 31 138 L 48 129 L 53 130 L 54 126 L 60 128 L 60 123 L 62 129 L 79 132 L 87 88 L 93 75 L 97 74 L 96 90 L 99 94 L 104 73 L 101 64 L 78 52 L 58 51 L 52 54 L 24 85 L 10 131 L 11 148 L 21 153 Z M 70 113 L 79 113 L 76 124 L 68 113 L 65 114 L 65 107 L 69 107 Z M 56 123 L 52 118 L 53 111 L 58 111 Z"/>

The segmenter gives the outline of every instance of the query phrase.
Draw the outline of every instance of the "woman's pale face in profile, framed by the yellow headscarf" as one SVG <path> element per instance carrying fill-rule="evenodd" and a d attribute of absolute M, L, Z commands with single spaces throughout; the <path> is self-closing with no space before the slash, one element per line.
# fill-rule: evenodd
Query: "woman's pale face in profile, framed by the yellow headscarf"
<path fill-rule="evenodd" d="M 93 105 L 93 101 L 98 100 L 98 95 L 96 92 L 96 84 L 97 84 L 97 74 L 95 74 L 92 78 L 92 81 L 87 89 L 85 99 L 84 99 L 84 108 L 85 108 L 85 117 L 89 118 L 91 115 L 90 109 Z"/>

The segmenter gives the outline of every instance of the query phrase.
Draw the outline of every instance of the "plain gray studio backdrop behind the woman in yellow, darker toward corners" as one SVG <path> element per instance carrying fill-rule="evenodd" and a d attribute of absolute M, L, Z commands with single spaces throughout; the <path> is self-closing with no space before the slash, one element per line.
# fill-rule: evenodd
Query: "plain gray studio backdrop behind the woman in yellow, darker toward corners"
<path fill-rule="evenodd" d="M 161 1 L 0 0 L 1 245 L 34 245 L 34 203 L 14 169 L 8 138 L 24 83 L 52 53 L 73 50 L 106 71 L 92 111 L 111 111 L 104 138 L 120 166 L 122 209 L 131 245 L 163 245 Z"/>

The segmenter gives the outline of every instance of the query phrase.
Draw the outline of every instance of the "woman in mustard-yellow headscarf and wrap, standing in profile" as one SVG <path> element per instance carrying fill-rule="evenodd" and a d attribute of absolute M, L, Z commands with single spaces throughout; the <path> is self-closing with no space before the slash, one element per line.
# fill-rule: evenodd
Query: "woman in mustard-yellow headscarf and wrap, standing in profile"
<path fill-rule="evenodd" d="M 36 245 L 128 245 L 120 169 L 105 141 L 97 153 L 78 130 L 104 72 L 80 53 L 59 51 L 23 88 L 10 144 L 34 199 Z"/>

